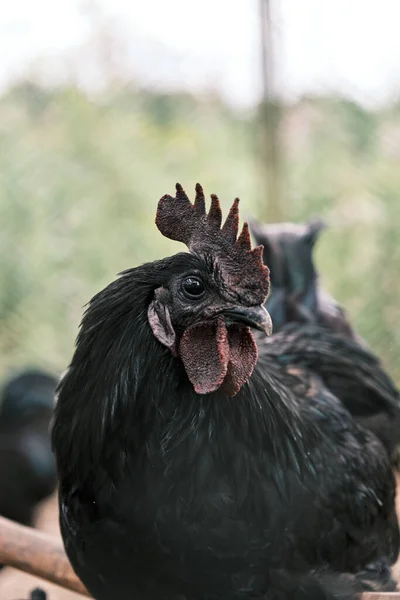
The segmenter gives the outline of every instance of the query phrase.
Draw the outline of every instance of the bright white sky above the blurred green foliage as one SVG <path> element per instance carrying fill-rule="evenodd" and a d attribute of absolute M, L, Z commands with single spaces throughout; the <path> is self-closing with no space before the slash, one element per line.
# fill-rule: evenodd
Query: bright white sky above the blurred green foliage
<path fill-rule="evenodd" d="M 152 85 L 218 88 L 239 104 L 257 99 L 258 0 L 96 4 L 124 33 L 123 62 L 133 78 Z M 275 0 L 274 4 L 277 77 L 285 94 L 337 90 L 373 104 L 400 92 L 400 0 Z M 38 56 L 71 55 L 87 44 L 93 31 L 88 7 L 88 0 L 4 2 L 0 86 L 26 71 Z M 59 62 L 58 69 L 60 64 L 64 63 Z M 80 70 L 80 78 L 93 83 L 96 75 L 90 60 L 83 61 Z"/>

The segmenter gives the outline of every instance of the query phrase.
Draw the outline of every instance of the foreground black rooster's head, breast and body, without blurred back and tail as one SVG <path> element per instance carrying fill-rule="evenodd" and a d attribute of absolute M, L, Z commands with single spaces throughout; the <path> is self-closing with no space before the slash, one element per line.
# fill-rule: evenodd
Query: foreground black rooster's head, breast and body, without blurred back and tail
<path fill-rule="evenodd" d="M 122 273 L 82 321 L 52 431 L 67 554 L 97 600 L 310 600 L 393 589 L 381 443 L 271 342 L 262 248 L 177 184 L 181 253 Z M 304 390 L 298 393 L 299 385 Z M 297 393 L 296 393 L 297 392 Z M 235 397 L 233 397 L 235 396 Z"/>

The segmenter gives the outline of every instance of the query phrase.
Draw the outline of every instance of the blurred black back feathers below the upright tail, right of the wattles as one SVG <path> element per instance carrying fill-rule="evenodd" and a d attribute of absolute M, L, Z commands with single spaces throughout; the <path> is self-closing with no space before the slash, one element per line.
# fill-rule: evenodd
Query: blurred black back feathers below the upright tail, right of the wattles
<path fill-rule="evenodd" d="M 264 340 L 282 364 L 321 377 L 356 421 L 383 443 L 395 464 L 400 444 L 400 394 L 379 359 L 365 346 L 318 324 L 286 325 L 276 342 Z M 279 352 L 277 349 L 279 348 Z"/>

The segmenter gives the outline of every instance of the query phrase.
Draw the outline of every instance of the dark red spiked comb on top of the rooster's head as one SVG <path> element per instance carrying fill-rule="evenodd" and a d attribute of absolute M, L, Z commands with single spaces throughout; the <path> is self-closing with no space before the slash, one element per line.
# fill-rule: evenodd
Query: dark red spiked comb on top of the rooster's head
<path fill-rule="evenodd" d="M 269 292 L 269 271 L 263 264 L 263 247 L 251 248 L 249 227 L 239 231 L 239 198 L 234 201 L 221 228 L 222 211 L 215 194 L 206 212 L 203 188 L 196 184 L 192 204 L 180 183 L 176 197 L 166 194 L 157 208 L 156 225 L 165 237 L 187 245 L 193 254 L 212 255 L 222 267 L 230 286 L 247 304 L 261 304 Z"/>

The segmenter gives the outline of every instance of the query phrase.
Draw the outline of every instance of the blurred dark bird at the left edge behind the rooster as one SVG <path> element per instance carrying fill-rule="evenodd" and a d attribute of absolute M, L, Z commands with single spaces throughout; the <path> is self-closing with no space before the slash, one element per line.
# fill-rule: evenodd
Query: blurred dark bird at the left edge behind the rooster
<path fill-rule="evenodd" d="M 56 488 L 49 425 L 58 380 L 39 370 L 13 377 L 0 397 L 0 514 L 32 525 Z"/>

